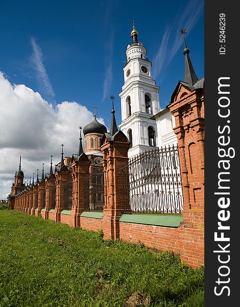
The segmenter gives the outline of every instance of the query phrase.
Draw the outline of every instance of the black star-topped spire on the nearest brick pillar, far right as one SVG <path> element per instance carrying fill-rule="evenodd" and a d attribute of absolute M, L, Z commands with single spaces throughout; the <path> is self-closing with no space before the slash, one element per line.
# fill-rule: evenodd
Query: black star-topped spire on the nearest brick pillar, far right
<path fill-rule="evenodd" d="M 186 41 L 185 41 L 185 35 L 186 35 L 186 29 L 179 30 L 181 32 L 181 35 L 183 36 L 183 54 L 185 56 L 185 73 L 184 73 L 184 82 L 188 83 L 189 85 L 193 86 L 197 81 L 198 77 L 194 71 L 193 64 L 191 63 L 190 57 L 189 57 L 189 49 L 187 48 Z"/>

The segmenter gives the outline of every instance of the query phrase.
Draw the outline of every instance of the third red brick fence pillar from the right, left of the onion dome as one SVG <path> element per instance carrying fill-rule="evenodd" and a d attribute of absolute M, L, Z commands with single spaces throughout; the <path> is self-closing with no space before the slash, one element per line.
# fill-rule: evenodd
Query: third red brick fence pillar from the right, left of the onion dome
<path fill-rule="evenodd" d="M 80 227 L 80 215 L 84 211 L 84 179 L 89 175 L 90 161 L 85 153 L 82 153 L 78 159 L 71 159 L 73 178 L 73 206 L 69 219 L 69 226 Z"/>

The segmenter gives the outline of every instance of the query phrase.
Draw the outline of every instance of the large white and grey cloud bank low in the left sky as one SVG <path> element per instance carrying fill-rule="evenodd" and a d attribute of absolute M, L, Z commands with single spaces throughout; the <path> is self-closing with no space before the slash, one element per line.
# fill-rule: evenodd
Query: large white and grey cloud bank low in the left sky
<path fill-rule="evenodd" d="M 50 156 L 54 164 L 61 160 L 62 143 L 64 156 L 78 152 L 79 126 L 92 119 L 85 106 L 64 101 L 54 109 L 39 93 L 23 84 L 12 85 L 0 72 L 0 199 L 11 191 L 20 150 L 26 180 L 33 172 L 36 177 L 37 168 L 41 174 L 42 163 L 49 172 Z"/>

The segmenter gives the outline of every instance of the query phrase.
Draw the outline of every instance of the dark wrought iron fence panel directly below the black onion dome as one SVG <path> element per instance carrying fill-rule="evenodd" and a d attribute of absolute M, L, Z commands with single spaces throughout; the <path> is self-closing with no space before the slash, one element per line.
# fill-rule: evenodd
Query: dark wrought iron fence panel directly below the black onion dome
<path fill-rule="evenodd" d="M 94 170 L 84 180 L 84 210 L 103 211 L 104 174 L 103 168 Z"/>

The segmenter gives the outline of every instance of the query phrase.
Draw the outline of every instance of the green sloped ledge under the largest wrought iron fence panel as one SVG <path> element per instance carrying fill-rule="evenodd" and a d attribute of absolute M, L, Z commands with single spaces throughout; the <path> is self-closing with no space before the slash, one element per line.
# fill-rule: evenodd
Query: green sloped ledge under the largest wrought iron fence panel
<path fill-rule="evenodd" d="M 146 224 L 166 227 L 178 227 L 182 215 L 155 215 L 155 214 L 123 214 L 119 222 Z"/>

